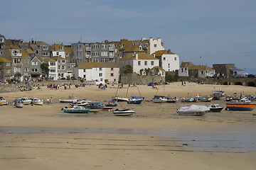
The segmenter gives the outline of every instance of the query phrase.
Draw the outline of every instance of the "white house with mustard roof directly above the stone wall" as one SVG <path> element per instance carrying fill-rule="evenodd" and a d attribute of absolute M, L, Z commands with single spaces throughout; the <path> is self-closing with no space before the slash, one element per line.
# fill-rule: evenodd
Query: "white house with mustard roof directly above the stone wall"
<path fill-rule="evenodd" d="M 133 72 L 145 74 L 145 69 L 152 69 L 153 67 L 159 66 L 159 60 L 153 55 L 146 53 L 131 53 L 119 60 L 119 67 L 126 65 L 132 66 Z"/>

